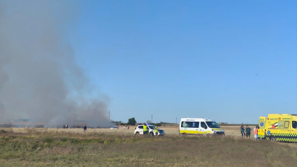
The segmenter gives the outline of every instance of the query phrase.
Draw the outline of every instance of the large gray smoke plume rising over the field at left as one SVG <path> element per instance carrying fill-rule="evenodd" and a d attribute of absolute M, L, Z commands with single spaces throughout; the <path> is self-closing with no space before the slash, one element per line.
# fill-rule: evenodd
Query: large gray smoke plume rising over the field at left
<path fill-rule="evenodd" d="M 0 1 L 1 120 L 110 126 L 108 98 L 87 96 L 94 90 L 66 38 L 79 14 L 72 2 Z"/>

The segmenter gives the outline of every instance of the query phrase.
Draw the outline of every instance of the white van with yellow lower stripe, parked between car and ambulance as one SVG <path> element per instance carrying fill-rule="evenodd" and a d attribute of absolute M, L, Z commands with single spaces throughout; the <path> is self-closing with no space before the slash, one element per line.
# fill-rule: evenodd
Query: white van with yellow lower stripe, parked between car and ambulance
<path fill-rule="evenodd" d="M 197 135 L 225 134 L 224 130 L 212 119 L 189 117 L 180 119 L 180 133 Z"/>

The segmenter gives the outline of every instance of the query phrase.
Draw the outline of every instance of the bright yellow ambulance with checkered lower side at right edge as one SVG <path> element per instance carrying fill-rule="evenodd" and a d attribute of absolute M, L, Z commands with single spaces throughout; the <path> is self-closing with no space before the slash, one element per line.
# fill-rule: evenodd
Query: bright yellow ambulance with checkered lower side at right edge
<path fill-rule="evenodd" d="M 258 137 L 271 141 L 297 142 L 297 115 L 270 114 L 259 118 Z"/>

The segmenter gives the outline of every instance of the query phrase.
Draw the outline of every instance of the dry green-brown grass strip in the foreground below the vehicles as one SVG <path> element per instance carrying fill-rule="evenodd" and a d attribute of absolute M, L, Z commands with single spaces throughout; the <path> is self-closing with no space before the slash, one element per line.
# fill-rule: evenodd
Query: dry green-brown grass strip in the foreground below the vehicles
<path fill-rule="evenodd" d="M 296 166 L 289 143 L 234 137 L 0 135 L 0 166 Z"/>

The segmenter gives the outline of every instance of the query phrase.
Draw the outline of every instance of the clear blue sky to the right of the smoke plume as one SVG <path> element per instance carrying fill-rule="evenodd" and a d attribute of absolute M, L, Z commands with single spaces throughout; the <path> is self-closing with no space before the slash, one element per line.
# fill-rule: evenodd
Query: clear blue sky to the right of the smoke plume
<path fill-rule="evenodd" d="M 110 118 L 297 113 L 296 1 L 85 1 L 75 59 Z"/>

